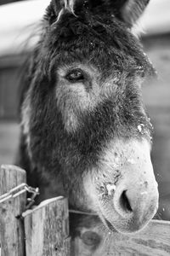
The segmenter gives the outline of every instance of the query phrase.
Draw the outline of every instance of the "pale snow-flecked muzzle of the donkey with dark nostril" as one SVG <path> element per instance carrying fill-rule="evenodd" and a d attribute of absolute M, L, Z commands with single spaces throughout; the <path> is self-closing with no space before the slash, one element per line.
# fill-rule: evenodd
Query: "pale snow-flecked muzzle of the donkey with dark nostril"
<path fill-rule="evenodd" d="M 116 158 L 120 156 L 117 163 L 114 155 L 120 144 L 122 150 L 116 153 Z M 111 153 L 114 153 L 112 158 Z M 99 217 L 110 230 L 134 233 L 143 229 L 156 214 L 159 197 L 149 143 L 116 143 L 115 147 L 110 145 L 105 150 L 101 159 L 99 168 L 84 177 L 90 197 L 88 206 L 94 211 L 98 209 Z M 110 168 L 108 160 L 111 159 L 114 163 L 110 163 Z"/>

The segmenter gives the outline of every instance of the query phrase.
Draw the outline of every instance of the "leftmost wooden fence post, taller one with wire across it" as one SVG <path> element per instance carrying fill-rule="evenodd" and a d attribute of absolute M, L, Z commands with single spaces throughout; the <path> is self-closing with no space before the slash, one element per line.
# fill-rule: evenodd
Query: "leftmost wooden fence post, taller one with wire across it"
<path fill-rule="evenodd" d="M 17 166 L 1 166 L 0 195 L 8 190 L 26 183 L 26 172 Z M 20 218 L 26 211 L 26 193 L 0 205 L 0 238 L 1 256 L 24 256 L 25 235 L 24 226 Z"/>

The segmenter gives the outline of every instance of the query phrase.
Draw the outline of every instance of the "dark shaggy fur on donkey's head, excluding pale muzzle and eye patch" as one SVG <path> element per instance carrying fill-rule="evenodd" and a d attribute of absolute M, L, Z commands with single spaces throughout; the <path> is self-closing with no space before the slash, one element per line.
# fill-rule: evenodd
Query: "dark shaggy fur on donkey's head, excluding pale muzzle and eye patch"
<path fill-rule="evenodd" d="M 20 101 L 22 106 L 29 91 L 31 157 L 21 131 L 18 164 L 28 172 L 28 183 L 39 186 L 40 191 L 55 181 L 56 188 L 51 189 L 51 196 L 79 194 L 82 173 L 97 164 L 101 147 L 112 137 L 146 136 L 136 130 L 139 123 L 150 133 L 133 80 L 137 75 L 147 77 L 154 70 L 137 38 L 119 19 L 122 2 L 125 1 L 115 1 L 112 9 L 108 8 L 107 1 L 101 6 L 96 1 L 79 3 L 78 16 L 65 12 L 58 23 L 55 23 L 56 9 L 51 3 L 44 16 L 40 41 L 26 66 Z M 101 80 L 116 76 L 119 88 L 114 99 L 108 98 L 94 112 L 82 116 L 79 129 L 68 134 L 56 107 L 54 90 L 58 78 L 55 71 L 60 65 L 74 61 L 98 67 Z M 71 207 L 74 204 L 70 201 Z"/>

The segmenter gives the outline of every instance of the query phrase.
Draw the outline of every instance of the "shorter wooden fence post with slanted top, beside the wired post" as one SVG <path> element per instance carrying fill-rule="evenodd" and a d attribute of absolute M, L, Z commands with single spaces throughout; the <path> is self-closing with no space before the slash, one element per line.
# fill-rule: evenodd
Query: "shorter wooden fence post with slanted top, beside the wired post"
<path fill-rule="evenodd" d="M 26 256 L 69 256 L 68 201 L 59 196 L 42 201 L 24 214 Z"/>

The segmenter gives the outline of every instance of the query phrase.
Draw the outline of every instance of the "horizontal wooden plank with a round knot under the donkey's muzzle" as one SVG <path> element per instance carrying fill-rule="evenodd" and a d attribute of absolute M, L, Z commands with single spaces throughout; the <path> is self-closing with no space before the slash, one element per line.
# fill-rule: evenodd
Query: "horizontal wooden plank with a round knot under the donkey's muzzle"
<path fill-rule="evenodd" d="M 72 241 L 72 256 L 170 255 L 170 222 L 167 221 L 152 220 L 144 230 L 128 236 L 109 232 L 102 224 L 92 229 L 83 228 L 80 234 Z"/>

